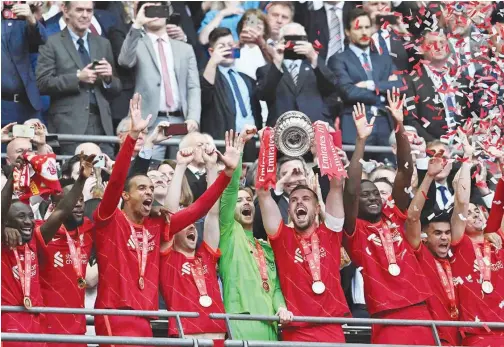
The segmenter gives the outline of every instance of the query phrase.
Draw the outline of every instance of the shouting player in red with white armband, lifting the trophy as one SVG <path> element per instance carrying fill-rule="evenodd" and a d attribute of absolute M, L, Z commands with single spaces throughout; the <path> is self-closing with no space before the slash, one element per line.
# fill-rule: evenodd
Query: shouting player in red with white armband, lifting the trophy
<path fill-rule="evenodd" d="M 320 213 L 317 193 L 306 185 L 292 190 L 289 217 L 293 228 L 282 221 L 269 190 L 257 191 L 264 228 L 275 253 L 280 286 L 287 309 L 294 316 L 350 316 L 338 271 L 345 218 L 343 180 L 333 178 L 330 185 L 325 222 L 320 225 L 316 221 Z M 291 323 L 283 327 L 282 339 L 345 342 L 343 329 L 336 324 Z"/>

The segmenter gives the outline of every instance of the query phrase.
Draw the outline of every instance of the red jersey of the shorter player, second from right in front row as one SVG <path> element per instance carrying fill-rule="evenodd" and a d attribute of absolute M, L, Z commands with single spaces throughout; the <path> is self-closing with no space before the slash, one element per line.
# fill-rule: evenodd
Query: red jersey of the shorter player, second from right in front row
<path fill-rule="evenodd" d="M 453 320 L 457 321 L 458 317 L 451 316 L 451 303 L 448 295 L 441 283 L 441 278 L 435 263 L 435 257 L 429 251 L 427 246 L 420 244 L 418 250 L 415 251 L 420 267 L 423 269 L 425 276 L 427 276 L 433 295 L 427 299 L 427 307 L 434 320 Z M 449 261 L 449 260 L 448 260 Z M 453 281 L 452 278 L 448 278 Z M 456 295 L 455 295 L 456 297 Z M 455 299 L 456 300 L 456 299 Z M 457 302 L 455 301 L 455 304 Z M 439 337 L 450 343 L 451 346 L 460 345 L 460 336 L 455 327 L 438 327 Z"/>

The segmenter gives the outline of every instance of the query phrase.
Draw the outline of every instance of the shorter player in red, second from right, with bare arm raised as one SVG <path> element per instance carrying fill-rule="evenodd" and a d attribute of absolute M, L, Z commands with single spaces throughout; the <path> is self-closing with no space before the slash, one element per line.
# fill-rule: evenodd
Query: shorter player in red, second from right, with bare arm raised
<path fill-rule="evenodd" d="M 438 216 L 429 216 L 430 220 L 428 223 L 424 223 L 423 228 L 421 223 L 425 192 L 429 190 L 434 177 L 443 170 L 446 163 L 442 155 L 443 153 L 436 153 L 435 157 L 429 161 L 427 175 L 411 201 L 406 220 L 406 240 L 415 250 L 418 262 L 432 288 L 434 295 L 427 299 L 427 307 L 432 318 L 442 321 L 457 321 L 459 317 L 457 297 L 448 251 L 451 243 L 452 225 L 454 228 L 460 227 L 460 218 L 458 217 L 458 214 L 462 212 L 460 204 L 456 202 L 453 217 L 451 213 L 443 211 Z M 470 184 L 470 177 L 467 182 L 468 177 L 466 176 L 466 172 L 460 175 L 458 186 Z M 430 214 L 430 211 L 427 214 Z M 452 220 L 451 224 L 450 219 Z M 422 243 L 421 240 L 422 231 L 427 235 L 425 243 Z M 456 327 L 438 327 L 438 334 L 443 345 L 460 345 L 460 335 Z"/>

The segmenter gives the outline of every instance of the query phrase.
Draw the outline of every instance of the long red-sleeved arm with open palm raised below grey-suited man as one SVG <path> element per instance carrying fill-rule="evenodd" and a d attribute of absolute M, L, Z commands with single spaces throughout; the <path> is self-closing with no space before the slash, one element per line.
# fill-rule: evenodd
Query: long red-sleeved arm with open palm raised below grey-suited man
<path fill-rule="evenodd" d="M 124 190 L 126 177 L 128 176 L 136 140 L 140 133 L 149 125 L 151 115 L 147 119 L 142 118 L 142 97 L 138 93 L 135 93 L 133 99 L 130 100 L 130 119 L 129 134 L 117 155 L 114 170 L 112 170 L 112 175 L 103 194 L 103 199 L 95 211 L 95 220 L 97 220 L 96 217 L 102 221 L 110 218 L 117 208 Z"/>

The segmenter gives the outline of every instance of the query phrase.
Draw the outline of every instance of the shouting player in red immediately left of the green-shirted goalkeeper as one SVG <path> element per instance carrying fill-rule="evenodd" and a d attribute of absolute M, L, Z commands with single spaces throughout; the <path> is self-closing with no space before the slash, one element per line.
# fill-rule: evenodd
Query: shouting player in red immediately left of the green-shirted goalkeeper
<path fill-rule="evenodd" d="M 244 141 L 241 137 L 233 138 L 231 130 L 225 136 L 226 153 L 220 156 L 225 165 L 224 172 L 232 177 Z M 217 151 L 205 148 L 203 159 L 207 168 L 207 184 L 211 185 L 217 178 Z M 193 156 L 177 155 L 177 167 L 170 185 L 169 199 L 178 206 L 182 180 L 187 165 Z M 172 188 L 173 187 L 173 188 Z M 194 339 L 212 339 L 214 346 L 224 346 L 226 326 L 224 321 L 212 320 L 210 313 L 224 313 L 224 303 L 217 282 L 217 261 L 219 251 L 219 203 L 215 203 L 205 218 L 203 243 L 198 249 L 198 233 L 194 224 L 175 234 L 173 241 L 161 245 L 160 291 L 170 311 L 198 312 L 197 319 L 182 319 L 185 337 Z M 168 335 L 179 337 L 174 318 L 168 322 Z"/>

